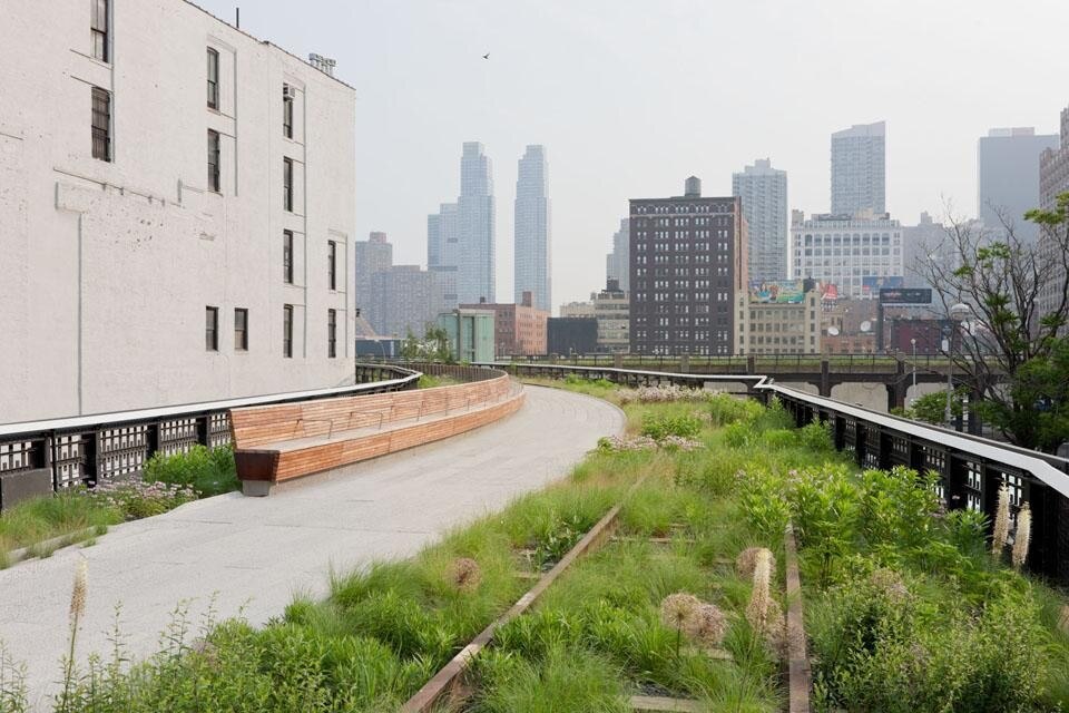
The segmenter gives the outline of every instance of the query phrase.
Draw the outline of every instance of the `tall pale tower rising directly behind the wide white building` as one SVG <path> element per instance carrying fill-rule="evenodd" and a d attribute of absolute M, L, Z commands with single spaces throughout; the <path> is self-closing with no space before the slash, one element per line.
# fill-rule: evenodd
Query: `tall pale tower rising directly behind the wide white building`
<path fill-rule="evenodd" d="M 832 214 L 887 212 L 886 123 L 855 124 L 832 134 Z"/>

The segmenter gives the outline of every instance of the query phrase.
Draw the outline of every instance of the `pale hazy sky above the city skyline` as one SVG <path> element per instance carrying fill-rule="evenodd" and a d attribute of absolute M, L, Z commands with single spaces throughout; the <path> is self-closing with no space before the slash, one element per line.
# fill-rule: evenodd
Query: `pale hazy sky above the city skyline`
<path fill-rule="evenodd" d="M 425 263 L 426 214 L 493 159 L 497 292 L 512 294 L 517 160 L 545 144 L 553 303 L 586 299 L 627 198 L 729 195 L 769 157 L 790 205 L 828 209 L 830 134 L 887 121 L 887 209 L 975 213 L 977 138 L 1056 134 L 1065 0 L 199 0 L 356 87 L 356 231 Z M 490 52 L 489 61 L 482 55 Z M 555 307 L 556 309 L 556 307 Z"/>

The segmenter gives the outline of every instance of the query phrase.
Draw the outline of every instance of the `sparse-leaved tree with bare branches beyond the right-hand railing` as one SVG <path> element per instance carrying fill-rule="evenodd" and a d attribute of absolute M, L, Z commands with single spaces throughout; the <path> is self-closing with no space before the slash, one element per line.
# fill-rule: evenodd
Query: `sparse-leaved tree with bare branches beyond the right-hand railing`
<path fill-rule="evenodd" d="M 980 399 L 978 410 L 984 420 L 1026 448 L 1051 448 L 1052 439 L 1059 438 L 1039 437 L 1036 403 L 1029 400 L 1033 387 L 1018 388 L 1017 380 L 1019 374 L 1043 371 L 1069 318 L 1067 217 L 1069 193 L 1058 197 L 1056 209 L 1024 215 L 1040 226 L 1039 242 L 1021 238 L 1012 217 L 1004 214 L 994 236 L 951 218 L 938 246 L 942 258 L 929 260 L 920 268 L 943 314 L 950 315 L 958 303 L 970 307 L 950 350 L 959 381 Z M 1050 297 L 1045 313 L 1041 295 Z"/>

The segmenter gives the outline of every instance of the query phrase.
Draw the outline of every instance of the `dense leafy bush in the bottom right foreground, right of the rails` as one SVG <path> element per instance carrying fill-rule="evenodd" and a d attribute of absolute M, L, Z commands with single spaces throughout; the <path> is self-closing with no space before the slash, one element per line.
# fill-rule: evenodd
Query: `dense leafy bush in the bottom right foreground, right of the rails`
<path fill-rule="evenodd" d="M 929 597 L 887 569 L 828 590 L 808 627 L 816 710 L 1038 710 L 1033 604 L 1001 597 L 974 617 Z"/>

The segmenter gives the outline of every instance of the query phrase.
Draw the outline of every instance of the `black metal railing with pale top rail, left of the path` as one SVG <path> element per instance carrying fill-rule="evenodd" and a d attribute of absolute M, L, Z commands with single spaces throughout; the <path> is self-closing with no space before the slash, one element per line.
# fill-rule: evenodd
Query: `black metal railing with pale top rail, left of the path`
<path fill-rule="evenodd" d="M 422 373 L 389 364 L 356 364 L 356 383 L 0 426 L 0 509 L 7 499 L 134 477 L 155 453 L 232 441 L 229 410 L 415 388 Z"/>

